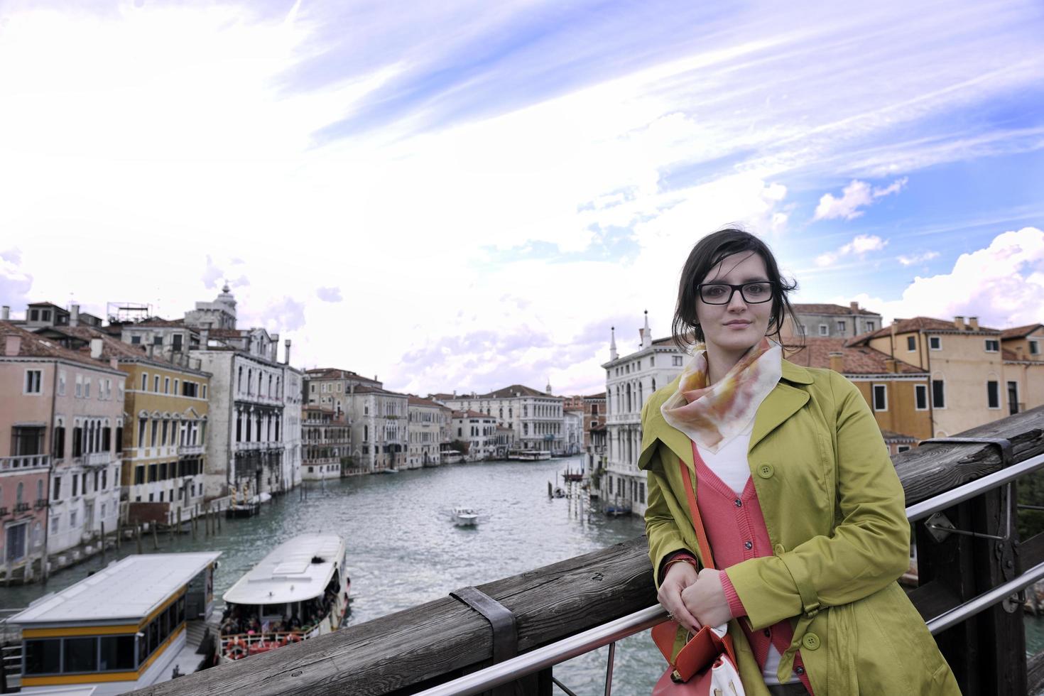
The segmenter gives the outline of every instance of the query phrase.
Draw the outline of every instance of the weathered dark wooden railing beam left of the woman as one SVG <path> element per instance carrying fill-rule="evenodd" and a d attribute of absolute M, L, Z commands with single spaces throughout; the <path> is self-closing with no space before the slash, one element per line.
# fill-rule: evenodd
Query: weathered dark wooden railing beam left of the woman
<path fill-rule="evenodd" d="M 478 589 L 515 614 L 520 652 L 656 603 L 644 536 Z M 492 654 L 487 620 L 446 597 L 134 693 L 407 693 Z"/>

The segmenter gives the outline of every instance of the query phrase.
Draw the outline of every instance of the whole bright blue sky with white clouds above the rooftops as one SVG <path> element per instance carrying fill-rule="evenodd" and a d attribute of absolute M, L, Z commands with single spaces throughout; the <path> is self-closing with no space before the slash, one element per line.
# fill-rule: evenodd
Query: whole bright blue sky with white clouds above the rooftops
<path fill-rule="evenodd" d="M 1044 320 L 1040 2 L 0 4 L 0 296 L 229 279 L 300 366 L 603 388 L 740 222 L 799 302 Z"/>

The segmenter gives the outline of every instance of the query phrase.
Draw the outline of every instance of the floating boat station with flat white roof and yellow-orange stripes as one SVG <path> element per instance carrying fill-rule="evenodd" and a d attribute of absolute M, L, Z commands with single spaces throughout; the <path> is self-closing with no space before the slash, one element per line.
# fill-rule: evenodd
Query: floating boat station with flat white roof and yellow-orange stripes
<path fill-rule="evenodd" d="M 13 616 L 22 629 L 22 692 L 82 685 L 109 696 L 209 667 L 213 653 L 197 650 L 220 555 L 130 555 Z"/>

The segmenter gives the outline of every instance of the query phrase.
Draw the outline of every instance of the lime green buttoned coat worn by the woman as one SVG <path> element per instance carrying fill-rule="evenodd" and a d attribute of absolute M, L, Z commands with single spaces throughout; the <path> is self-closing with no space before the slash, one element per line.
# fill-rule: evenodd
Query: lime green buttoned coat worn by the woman
<path fill-rule="evenodd" d="M 642 409 L 638 465 L 648 472 L 654 569 L 681 549 L 699 555 L 678 464 L 685 461 L 695 481 L 690 440 L 660 413 L 677 387 L 675 379 Z M 903 488 L 855 385 L 784 360 L 755 416 L 748 460 L 775 553 L 726 571 L 746 608 L 742 620 L 760 630 L 791 619 L 816 696 L 959 695 L 896 582 L 909 562 Z M 731 624 L 746 693 L 766 696 L 750 645 Z"/>

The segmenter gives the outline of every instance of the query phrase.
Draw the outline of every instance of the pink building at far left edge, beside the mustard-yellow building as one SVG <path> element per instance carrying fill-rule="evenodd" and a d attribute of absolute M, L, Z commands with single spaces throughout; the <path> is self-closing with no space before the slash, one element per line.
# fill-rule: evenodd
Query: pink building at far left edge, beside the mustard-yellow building
<path fill-rule="evenodd" d="M 38 579 L 45 550 L 89 543 L 102 522 L 115 529 L 123 378 L 0 321 L 0 581 Z"/>

